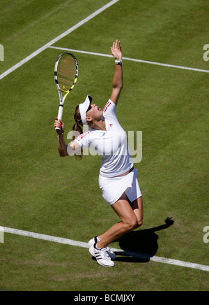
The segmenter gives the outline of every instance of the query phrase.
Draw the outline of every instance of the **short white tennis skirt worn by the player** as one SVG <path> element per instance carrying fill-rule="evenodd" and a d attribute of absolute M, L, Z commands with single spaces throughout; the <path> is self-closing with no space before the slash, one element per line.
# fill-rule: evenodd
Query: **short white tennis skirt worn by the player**
<path fill-rule="evenodd" d="M 141 197 L 141 190 L 137 180 L 137 169 L 121 177 L 107 178 L 99 176 L 99 186 L 102 191 L 102 197 L 110 206 L 114 204 L 125 192 L 130 202 Z"/>

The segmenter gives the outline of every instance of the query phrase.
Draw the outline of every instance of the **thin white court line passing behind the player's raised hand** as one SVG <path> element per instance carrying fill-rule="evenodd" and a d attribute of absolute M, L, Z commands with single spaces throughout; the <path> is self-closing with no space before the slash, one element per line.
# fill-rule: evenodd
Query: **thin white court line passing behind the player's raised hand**
<path fill-rule="evenodd" d="M 103 57 L 111 57 L 112 58 L 112 55 L 102 54 L 102 53 L 87 52 L 87 51 L 82 51 L 82 50 L 59 48 L 59 47 L 53 47 L 53 46 L 49 46 L 49 48 L 56 49 L 56 50 L 65 50 L 65 51 L 70 51 L 70 52 L 77 52 L 77 53 L 82 53 L 82 54 L 96 55 L 96 56 L 103 56 Z M 174 64 L 162 64 L 161 62 L 149 62 L 148 60 L 134 59 L 134 58 L 129 58 L 129 57 L 123 57 L 123 59 L 130 60 L 132 62 L 142 62 L 144 64 L 155 64 L 157 66 L 168 66 L 169 68 L 177 68 L 177 69 L 185 69 L 185 70 L 209 73 L 209 70 L 189 68 L 188 66 L 176 66 Z"/>

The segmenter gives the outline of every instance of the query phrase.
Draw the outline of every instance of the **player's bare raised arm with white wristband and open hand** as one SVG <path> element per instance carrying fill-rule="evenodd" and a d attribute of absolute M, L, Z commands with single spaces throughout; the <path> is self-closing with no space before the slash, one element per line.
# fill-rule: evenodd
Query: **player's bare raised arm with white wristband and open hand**
<path fill-rule="evenodd" d="M 115 64 L 115 71 L 112 82 L 112 92 L 110 99 L 111 101 L 114 102 L 114 104 L 117 104 L 121 94 L 121 90 L 123 88 L 121 41 L 118 41 L 118 39 L 116 39 L 116 42 L 112 44 L 112 47 L 110 47 L 110 49 L 111 49 L 111 54 L 114 56 L 114 59 L 117 62 Z"/>

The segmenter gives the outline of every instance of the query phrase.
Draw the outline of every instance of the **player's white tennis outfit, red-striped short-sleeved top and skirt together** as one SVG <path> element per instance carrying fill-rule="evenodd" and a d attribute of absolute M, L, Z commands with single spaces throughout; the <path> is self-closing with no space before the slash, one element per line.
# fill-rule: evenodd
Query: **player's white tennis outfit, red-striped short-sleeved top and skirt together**
<path fill-rule="evenodd" d="M 114 204 L 125 192 L 132 202 L 141 197 L 137 180 L 137 169 L 126 173 L 133 167 L 132 158 L 127 146 L 127 136 L 116 117 L 116 104 L 110 99 L 103 109 L 106 131 L 89 129 L 75 139 L 81 148 L 95 150 L 102 159 L 99 185 L 107 204 Z"/>

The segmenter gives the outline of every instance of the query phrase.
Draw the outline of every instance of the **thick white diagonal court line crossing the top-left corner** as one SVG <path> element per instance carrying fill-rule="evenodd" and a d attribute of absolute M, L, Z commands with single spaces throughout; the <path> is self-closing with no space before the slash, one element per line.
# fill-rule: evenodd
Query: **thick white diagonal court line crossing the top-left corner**
<path fill-rule="evenodd" d="M 102 6 L 102 8 L 96 10 L 93 14 L 89 15 L 88 17 L 86 17 L 84 20 L 78 22 L 77 24 L 75 24 L 73 27 L 70 27 L 70 29 L 68 29 L 67 31 L 63 32 L 63 34 L 57 36 L 56 38 L 52 39 L 52 41 L 49 41 L 49 43 L 46 43 L 45 45 L 43 45 L 41 48 L 39 48 L 38 50 L 36 50 L 35 52 L 33 52 L 31 55 L 29 55 L 28 57 L 24 58 L 21 60 L 21 62 L 18 62 L 17 64 L 15 64 L 15 66 L 12 66 L 10 69 L 8 69 L 7 71 L 3 72 L 0 75 L 0 80 L 2 78 L 4 78 L 5 76 L 7 76 L 8 74 L 10 74 L 11 72 L 15 71 L 17 68 L 19 68 L 20 66 L 22 66 L 23 64 L 25 64 L 26 62 L 29 62 L 30 59 L 32 59 L 33 57 L 35 57 L 36 55 L 40 54 L 42 51 L 46 50 L 47 48 L 49 48 L 50 45 L 53 45 L 54 43 L 56 43 L 57 41 L 59 41 L 61 38 L 67 36 L 68 34 L 70 34 L 72 31 L 74 31 L 75 29 L 77 29 L 78 27 L 80 27 L 82 24 L 88 22 L 89 20 L 91 20 L 93 17 L 99 15 L 100 13 L 103 12 L 103 10 L 106 10 L 107 8 L 109 8 L 110 6 L 112 6 L 114 3 L 118 2 L 119 0 L 113 0 L 110 1 L 109 3 L 107 3 L 105 6 Z"/>

